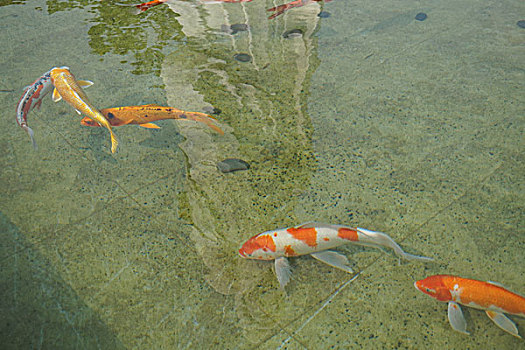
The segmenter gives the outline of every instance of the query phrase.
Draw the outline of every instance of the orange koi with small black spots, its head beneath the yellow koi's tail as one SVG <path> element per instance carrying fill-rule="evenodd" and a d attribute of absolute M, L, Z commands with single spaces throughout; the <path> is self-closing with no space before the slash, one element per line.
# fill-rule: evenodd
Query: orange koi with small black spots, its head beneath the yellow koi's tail
<path fill-rule="evenodd" d="M 104 108 L 101 112 L 111 126 L 138 124 L 143 128 L 160 129 L 158 125 L 151 122 L 164 119 L 195 120 L 208 125 L 219 134 L 224 135 L 224 131 L 212 123 L 212 120 L 216 120 L 215 118 L 199 112 L 185 112 L 180 109 L 163 107 L 156 104 Z M 100 126 L 99 123 L 88 117 L 84 117 L 80 123 L 85 126 Z"/>

